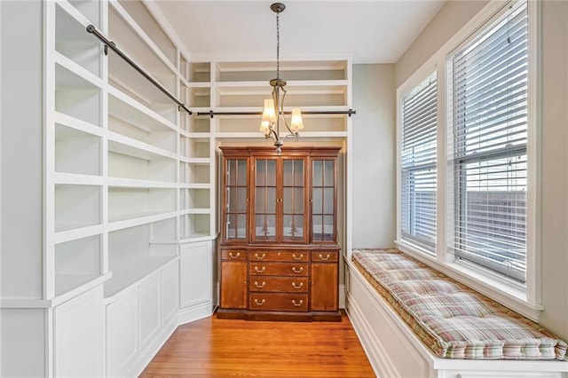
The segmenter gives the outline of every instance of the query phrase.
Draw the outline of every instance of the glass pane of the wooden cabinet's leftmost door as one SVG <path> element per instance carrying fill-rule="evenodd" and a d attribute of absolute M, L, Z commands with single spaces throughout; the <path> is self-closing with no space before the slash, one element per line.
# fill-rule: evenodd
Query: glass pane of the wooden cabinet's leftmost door
<path fill-rule="evenodd" d="M 225 240 L 248 240 L 247 170 L 246 159 L 226 160 Z"/>

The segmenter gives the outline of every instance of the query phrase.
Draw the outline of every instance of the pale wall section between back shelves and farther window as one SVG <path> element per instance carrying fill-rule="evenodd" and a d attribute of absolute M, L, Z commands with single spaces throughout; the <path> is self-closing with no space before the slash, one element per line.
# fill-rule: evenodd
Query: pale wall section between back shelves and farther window
<path fill-rule="evenodd" d="M 388 248 L 396 235 L 394 65 L 353 66 L 352 247 Z"/>

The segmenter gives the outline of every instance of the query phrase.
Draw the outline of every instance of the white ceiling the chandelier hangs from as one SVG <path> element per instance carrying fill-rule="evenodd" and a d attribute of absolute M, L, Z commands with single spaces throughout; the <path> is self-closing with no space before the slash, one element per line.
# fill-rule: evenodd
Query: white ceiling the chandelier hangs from
<path fill-rule="evenodd" d="M 154 0 L 193 61 L 276 59 L 272 1 Z M 394 63 L 445 0 L 286 0 L 280 60 Z"/>

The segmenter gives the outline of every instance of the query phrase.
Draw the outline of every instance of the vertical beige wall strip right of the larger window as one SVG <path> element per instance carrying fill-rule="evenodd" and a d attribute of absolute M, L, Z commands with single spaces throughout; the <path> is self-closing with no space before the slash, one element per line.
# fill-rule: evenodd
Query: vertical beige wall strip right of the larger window
<path fill-rule="evenodd" d="M 568 2 L 542 4 L 542 304 L 568 340 Z"/>

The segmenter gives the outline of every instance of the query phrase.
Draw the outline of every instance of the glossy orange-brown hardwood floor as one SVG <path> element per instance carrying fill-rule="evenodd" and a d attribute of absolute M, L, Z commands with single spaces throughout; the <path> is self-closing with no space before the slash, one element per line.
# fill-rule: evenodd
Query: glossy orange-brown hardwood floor
<path fill-rule="evenodd" d="M 177 328 L 142 377 L 374 377 L 351 322 L 217 319 Z"/>

